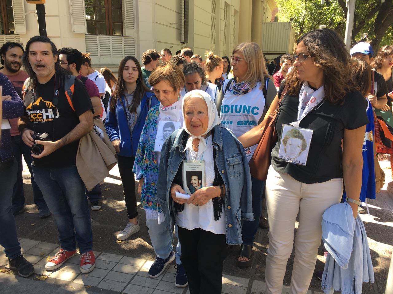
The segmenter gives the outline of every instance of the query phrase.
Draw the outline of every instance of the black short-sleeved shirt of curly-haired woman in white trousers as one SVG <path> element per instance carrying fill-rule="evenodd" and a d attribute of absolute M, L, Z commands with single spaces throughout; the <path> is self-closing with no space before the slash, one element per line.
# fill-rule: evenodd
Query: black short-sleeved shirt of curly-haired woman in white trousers
<path fill-rule="evenodd" d="M 281 95 L 283 86 L 278 95 Z M 272 166 L 278 172 L 285 172 L 295 180 L 312 184 L 342 178 L 341 140 L 344 129 L 357 129 L 369 120 L 364 97 L 360 92 L 349 92 L 342 105 L 333 105 L 325 100 L 303 120 L 299 127 L 313 130 L 307 165 L 289 163 L 278 158 L 283 124 L 290 124 L 298 118 L 299 93 L 286 95 L 281 101 L 275 122 L 278 141 L 272 150 Z"/>

